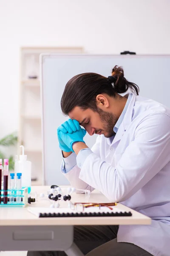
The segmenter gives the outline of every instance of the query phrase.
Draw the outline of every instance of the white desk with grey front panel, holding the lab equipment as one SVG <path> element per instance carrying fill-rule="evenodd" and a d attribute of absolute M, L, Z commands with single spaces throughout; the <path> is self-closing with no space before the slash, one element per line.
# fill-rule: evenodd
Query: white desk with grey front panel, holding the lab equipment
<path fill-rule="evenodd" d="M 63 186 L 62 186 L 63 187 Z M 33 186 L 38 193 L 49 190 L 49 186 Z M 72 194 L 71 201 L 84 202 L 85 195 Z M 93 191 L 89 202 L 109 202 L 98 191 Z M 32 203 L 30 207 L 45 207 L 47 201 Z M 27 208 L 0 208 L 0 250 L 64 250 L 68 256 L 83 254 L 73 243 L 74 225 L 147 225 L 151 219 L 139 212 L 119 204 L 123 211 L 131 211 L 130 217 L 64 217 L 38 218 Z"/>

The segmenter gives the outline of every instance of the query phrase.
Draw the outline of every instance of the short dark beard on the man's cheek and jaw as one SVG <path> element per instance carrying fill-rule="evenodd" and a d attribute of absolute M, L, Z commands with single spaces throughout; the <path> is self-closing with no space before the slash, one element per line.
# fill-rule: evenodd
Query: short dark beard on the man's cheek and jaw
<path fill-rule="evenodd" d="M 116 125 L 116 122 L 118 120 L 118 118 L 116 116 L 113 115 L 113 113 L 109 113 L 106 111 L 103 111 L 102 109 L 98 108 L 98 113 L 99 116 L 102 120 L 103 123 L 103 129 L 105 131 L 104 136 L 106 138 L 110 138 L 113 135 L 115 135 L 115 132 L 113 131 L 114 126 Z"/>

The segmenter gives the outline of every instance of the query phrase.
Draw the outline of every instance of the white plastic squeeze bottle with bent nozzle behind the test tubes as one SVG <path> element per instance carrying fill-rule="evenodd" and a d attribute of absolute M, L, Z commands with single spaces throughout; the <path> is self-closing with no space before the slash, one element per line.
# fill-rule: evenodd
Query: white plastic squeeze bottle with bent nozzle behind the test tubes
<path fill-rule="evenodd" d="M 22 155 L 18 161 L 18 172 L 22 173 L 22 188 L 28 188 L 28 193 L 31 192 L 31 162 L 27 161 L 27 155 L 24 154 L 24 146 L 22 148 Z"/>

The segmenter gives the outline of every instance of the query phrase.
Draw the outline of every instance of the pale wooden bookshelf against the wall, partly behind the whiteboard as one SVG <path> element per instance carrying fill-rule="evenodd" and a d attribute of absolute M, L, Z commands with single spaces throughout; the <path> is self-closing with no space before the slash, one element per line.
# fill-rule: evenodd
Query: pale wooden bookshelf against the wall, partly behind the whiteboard
<path fill-rule="evenodd" d="M 32 163 L 32 185 L 42 185 L 42 135 L 40 99 L 41 53 L 82 53 L 82 47 L 22 47 L 20 49 L 20 105 L 18 154 L 24 145 Z M 57 128 L 57 127 L 56 127 Z"/>

